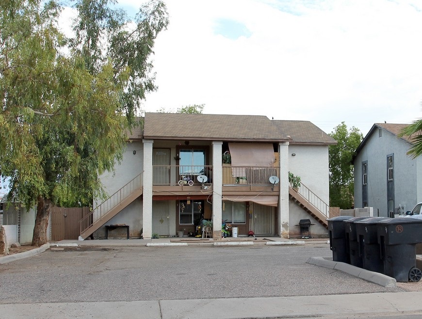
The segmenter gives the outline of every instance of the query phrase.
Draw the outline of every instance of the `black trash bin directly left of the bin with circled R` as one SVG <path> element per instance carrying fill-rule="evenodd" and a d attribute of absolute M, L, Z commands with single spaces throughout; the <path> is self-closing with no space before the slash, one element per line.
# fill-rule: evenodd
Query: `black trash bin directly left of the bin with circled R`
<path fill-rule="evenodd" d="M 378 244 L 377 226 L 380 221 L 389 217 L 369 217 L 355 222 L 359 255 L 362 256 L 363 268 L 369 271 L 384 273 Z"/>

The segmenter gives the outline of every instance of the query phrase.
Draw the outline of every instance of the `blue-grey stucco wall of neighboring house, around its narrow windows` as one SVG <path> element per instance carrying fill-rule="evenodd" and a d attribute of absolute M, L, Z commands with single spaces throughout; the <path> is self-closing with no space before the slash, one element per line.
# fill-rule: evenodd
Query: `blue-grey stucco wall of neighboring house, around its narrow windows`
<path fill-rule="evenodd" d="M 368 206 L 373 207 L 374 216 L 388 216 L 387 156 L 390 154 L 394 154 L 394 206 L 404 205 L 405 211 L 414 207 L 420 200 L 418 189 L 421 182 L 417 182 L 420 159 L 413 160 L 406 155 L 409 146 L 384 129 L 382 137 L 377 129 L 374 130 L 354 160 L 355 207 L 362 207 L 362 162 L 368 161 Z"/>

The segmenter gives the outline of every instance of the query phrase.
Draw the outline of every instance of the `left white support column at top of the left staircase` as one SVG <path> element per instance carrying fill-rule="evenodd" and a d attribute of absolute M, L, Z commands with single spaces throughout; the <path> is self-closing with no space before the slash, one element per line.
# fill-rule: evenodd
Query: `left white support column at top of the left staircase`
<path fill-rule="evenodd" d="M 145 239 L 152 237 L 152 144 L 153 140 L 142 140 L 144 143 L 144 194 L 142 201 L 142 227 Z"/>

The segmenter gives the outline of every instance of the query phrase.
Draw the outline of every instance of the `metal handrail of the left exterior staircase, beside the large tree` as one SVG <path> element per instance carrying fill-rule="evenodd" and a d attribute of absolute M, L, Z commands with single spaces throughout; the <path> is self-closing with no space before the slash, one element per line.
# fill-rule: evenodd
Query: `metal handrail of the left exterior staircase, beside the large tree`
<path fill-rule="evenodd" d="M 104 202 L 99 204 L 95 209 L 89 212 L 85 217 L 83 217 L 80 221 L 81 223 L 81 233 L 84 232 L 86 229 L 91 227 L 94 222 L 97 220 L 100 220 L 102 217 L 105 216 L 110 210 L 112 210 L 114 207 L 119 205 L 122 200 L 129 197 L 131 193 L 133 193 L 136 190 L 139 190 L 139 188 L 142 186 L 142 175 L 137 175 L 135 178 L 133 178 L 129 183 L 127 183 L 125 186 L 123 186 L 121 189 L 116 191 L 113 195 L 111 195 L 109 198 L 107 198 Z"/>

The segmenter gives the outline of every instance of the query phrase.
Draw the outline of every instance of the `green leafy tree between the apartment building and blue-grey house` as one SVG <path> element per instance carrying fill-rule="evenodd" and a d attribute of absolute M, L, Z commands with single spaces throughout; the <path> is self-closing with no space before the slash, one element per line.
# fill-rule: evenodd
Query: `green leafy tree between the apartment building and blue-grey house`
<path fill-rule="evenodd" d="M 363 139 L 358 128 L 347 129 L 341 122 L 329 134 L 337 141 L 329 146 L 329 180 L 330 206 L 342 209 L 352 208 L 354 205 L 354 174 L 353 155 Z"/>

